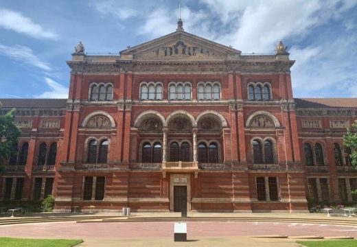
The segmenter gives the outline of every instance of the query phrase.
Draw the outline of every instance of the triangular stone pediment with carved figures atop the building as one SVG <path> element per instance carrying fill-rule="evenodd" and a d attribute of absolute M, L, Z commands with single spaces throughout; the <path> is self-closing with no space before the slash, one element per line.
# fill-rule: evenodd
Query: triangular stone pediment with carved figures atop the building
<path fill-rule="evenodd" d="M 177 31 L 120 52 L 135 60 L 225 60 L 239 58 L 241 51 L 193 34 Z"/>

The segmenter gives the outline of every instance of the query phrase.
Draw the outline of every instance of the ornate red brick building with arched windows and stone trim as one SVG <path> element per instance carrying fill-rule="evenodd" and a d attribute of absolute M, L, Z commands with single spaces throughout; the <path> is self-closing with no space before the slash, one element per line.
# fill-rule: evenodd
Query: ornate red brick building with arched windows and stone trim
<path fill-rule="evenodd" d="M 0 177 L 1 200 L 43 198 L 49 178 L 56 210 L 306 211 L 307 198 L 325 200 L 326 193 L 330 202 L 354 199 L 357 173 L 346 164 L 342 140 L 357 102 L 294 99 L 294 61 L 282 44 L 275 55 L 242 55 L 178 30 L 120 56 L 78 49 L 67 63 L 67 100 L 0 99 L 3 112 L 18 109 L 23 130 L 16 164 L 6 164 Z M 313 164 L 306 164 L 305 143 Z M 338 165 L 334 143 L 341 146 Z M 175 192 L 180 186 L 185 193 Z"/>

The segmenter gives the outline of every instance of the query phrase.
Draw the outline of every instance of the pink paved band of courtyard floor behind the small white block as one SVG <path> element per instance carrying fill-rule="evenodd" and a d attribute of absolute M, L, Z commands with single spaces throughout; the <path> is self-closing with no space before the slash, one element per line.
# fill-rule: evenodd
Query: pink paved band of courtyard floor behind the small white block
<path fill-rule="evenodd" d="M 0 226 L 1 237 L 172 237 L 174 222 L 55 222 Z M 321 235 L 357 237 L 357 226 L 267 222 L 187 222 L 187 237 Z"/>

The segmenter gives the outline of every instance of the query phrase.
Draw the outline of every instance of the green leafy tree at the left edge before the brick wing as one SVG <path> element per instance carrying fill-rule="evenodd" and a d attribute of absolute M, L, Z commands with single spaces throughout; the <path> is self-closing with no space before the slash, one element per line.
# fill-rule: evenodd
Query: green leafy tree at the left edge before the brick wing
<path fill-rule="evenodd" d="M 12 109 L 4 116 L 0 116 L 0 172 L 3 172 L 10 155 L 16 152 L 15 145 L 21 134 L 19 128 L 14 124 L 15 113 L 16 109 Z"/>

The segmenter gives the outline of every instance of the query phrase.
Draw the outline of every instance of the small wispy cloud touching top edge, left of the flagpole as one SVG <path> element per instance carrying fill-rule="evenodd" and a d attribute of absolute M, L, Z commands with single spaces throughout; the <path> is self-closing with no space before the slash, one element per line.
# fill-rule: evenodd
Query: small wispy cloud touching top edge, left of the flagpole
<path fill-rule="evenodd" d="M 138 14 L 137 10 L 125 7 L 120 1 L 96 1 L 93 5 L 100 13 L 109 14 L 122 21 Z"/>

